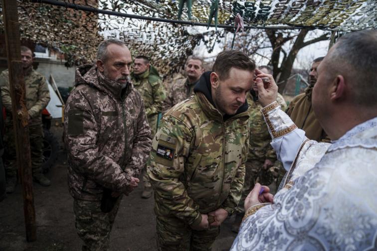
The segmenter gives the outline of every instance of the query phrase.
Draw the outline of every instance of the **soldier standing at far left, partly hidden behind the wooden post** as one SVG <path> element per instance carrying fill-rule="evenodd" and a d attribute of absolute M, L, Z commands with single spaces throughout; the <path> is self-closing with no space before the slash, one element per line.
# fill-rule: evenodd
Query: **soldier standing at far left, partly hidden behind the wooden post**
<path fill-rule="evenodd" d="M 33 52 L 21 46 L 21 60 L 26 88 L 26 108 L 29 115 L 29 138 L 33 180 L 42 186 L 49 186 L 50 180 L 42 173 L 43 127 L 42 110 L 50 101 L 46 79 L 32 67 Z M 12 122 L 12 103 L 9 91 L 8 70 L 0 75 L 2 104 L 5 108 L 5 144 L 6 144 L 6 192 L 14 192 L 17 182 L 15 135 Z"/>

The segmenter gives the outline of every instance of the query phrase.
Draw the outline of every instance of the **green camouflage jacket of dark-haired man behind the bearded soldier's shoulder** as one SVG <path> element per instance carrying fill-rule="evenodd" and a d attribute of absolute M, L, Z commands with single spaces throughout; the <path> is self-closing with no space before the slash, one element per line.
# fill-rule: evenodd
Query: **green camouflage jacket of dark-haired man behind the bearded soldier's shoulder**
<path fill-rule="evenodd" d="M 162 112 L 162 105 L 166 98 L 164 85 L 160 76 L 153 74 L 151 70 L 140 75 L 131 74 L 131 78 L 134 88 L 143 98 L 145 112 L 152 135 L 154 136 L 157 128 L 158 114 Z"/>

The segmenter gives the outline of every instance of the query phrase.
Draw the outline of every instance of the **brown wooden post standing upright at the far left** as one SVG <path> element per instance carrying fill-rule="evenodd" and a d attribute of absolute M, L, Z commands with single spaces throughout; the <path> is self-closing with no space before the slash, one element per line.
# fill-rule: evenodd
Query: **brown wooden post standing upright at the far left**
<path fill-rule="evenodd" d="M 5 46 L 9 71 L 9 91 L 12 99 L 12 118 L 17 152 L 17 166 L 23 187 L 23 212 L 26 240 L 36 240 L 34 196 L 31 174 L 28 113 L 26 108 L 25 82 L 20 52 L 17 1 L 2 0 L 5 29 Z"/>

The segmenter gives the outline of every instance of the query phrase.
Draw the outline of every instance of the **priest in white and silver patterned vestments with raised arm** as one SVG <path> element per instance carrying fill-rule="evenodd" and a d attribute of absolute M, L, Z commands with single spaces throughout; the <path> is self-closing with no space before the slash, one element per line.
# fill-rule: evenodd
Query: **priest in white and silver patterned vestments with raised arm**
<path fill-rule="evenodd" d="M 342 36 L 318 67 L 312 105 L 331 143 L 309 140 L 279 109 L 272 76 L 257 74 L 288 173 L 275 197 L 254 186 L 231 250 L 377 250 L 377 31 Z"/>

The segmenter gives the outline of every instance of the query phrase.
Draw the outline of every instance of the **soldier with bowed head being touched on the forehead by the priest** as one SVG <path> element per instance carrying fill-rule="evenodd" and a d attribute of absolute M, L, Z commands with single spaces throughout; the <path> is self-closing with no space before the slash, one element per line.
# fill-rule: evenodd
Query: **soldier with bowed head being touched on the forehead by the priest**
<path fill-rule="evenodd" d="M 195 95 L 167 112 L 153 139 L 148 175 L 155 189 L 161 251 L 211 250 L 241 197 L 255 63 L 240 51 L 218 54 Z"/>

